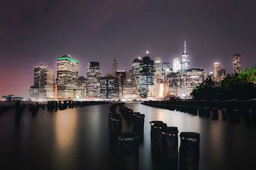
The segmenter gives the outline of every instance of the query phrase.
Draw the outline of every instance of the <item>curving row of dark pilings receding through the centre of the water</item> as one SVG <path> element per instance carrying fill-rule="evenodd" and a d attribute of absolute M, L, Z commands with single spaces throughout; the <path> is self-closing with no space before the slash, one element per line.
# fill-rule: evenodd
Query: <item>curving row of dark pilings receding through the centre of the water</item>
<path fill-rule="evenodd" d="M 132 132 L 122 132 L 122 117 L 133 124 Z M 111 146 L 116 153 L 117 169 L 138 169 L 139 143 L 143 139 L 145 115 L 134 113 L 124 103 L 112 104 L 109 108 L 109 134 Z"/>

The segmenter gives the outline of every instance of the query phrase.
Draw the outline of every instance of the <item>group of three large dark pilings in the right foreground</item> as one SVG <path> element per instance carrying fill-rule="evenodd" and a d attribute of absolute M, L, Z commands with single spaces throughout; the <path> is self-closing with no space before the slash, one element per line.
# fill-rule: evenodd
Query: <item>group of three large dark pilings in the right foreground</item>
<path fill-rule="evenodd" d="M 200 134 L 180 133 L 178 150 L 178 128 L 167 127 L 162 121 L 150 122 L 151 150 L 154 169 L 199 169 Z"/>

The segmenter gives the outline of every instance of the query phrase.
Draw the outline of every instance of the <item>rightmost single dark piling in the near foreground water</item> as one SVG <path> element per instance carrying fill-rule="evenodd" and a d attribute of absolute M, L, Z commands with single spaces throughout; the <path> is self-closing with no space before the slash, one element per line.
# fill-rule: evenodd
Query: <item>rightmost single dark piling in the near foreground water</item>
<path fill-rule="evenodd" d="M 196 132 L 180 133 L 179 170 L 199 169 L 200 134 Z"/>

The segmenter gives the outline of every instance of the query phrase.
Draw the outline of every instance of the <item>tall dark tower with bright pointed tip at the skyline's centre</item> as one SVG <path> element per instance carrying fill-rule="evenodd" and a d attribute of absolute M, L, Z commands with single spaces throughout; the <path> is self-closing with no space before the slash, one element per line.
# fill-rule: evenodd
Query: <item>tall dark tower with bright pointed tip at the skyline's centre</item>
<path fill-rule="evenodd" d="M 154 89 L 154 60 L 150 60 L 148 51 L 146 56 L 141 60 L 139 86 L 141 98 L 149 97 L 148 92 L 152 96 L 152 89 Z"/>

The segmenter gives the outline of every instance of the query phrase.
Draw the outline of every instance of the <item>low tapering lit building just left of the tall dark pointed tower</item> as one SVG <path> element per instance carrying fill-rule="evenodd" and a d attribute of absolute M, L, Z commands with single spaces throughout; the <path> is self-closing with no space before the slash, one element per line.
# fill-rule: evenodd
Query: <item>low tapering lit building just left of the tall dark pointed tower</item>
<path fill-rule="evenodd" d="M 138 97 L 138 86 L 136 83 L 136 77 L 132 70 L 129 70 L 123 87 L 123 99 L 137 99 Z"/>

